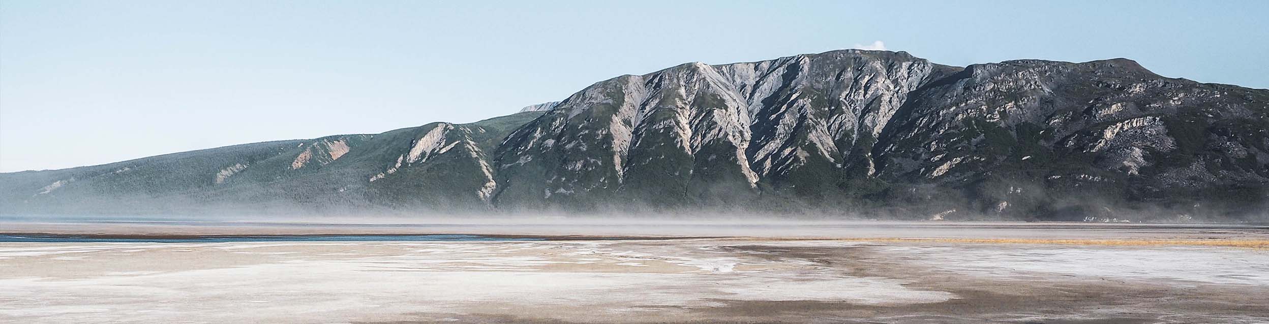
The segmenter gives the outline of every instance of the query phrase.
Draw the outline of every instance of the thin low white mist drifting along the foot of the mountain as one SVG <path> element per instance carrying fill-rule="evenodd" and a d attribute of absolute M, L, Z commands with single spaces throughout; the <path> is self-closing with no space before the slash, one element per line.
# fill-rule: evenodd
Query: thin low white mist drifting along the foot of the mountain
<path fill-rule="evenodd" d="M 0 221 L 263 221 L 263 223 L 325 223 L 325 224 L 492 224 L 492 223 L 605 223 L 626 221 L 674 224 L 723 224 L 744 221 L 815 223 L 815 221 L 1074 221 L 1074 223 L 1154 223 L 1154 224 L 1265 224 L 1269 211 L 1244 206 L 1250 213 L 1228 214 L 1199 206 L 1161 208 L 1079 205 L 1052 214 L 967 211 L 966 208 L 916 205 L 906 208 L 799 208 L 761 210 L 750 208 L 650 208 L 612 206 L 585 210 L 508 210 L 491 206 L 428 210 L 340 204 L 244 202 L 206 204 L 170 200 L 165 202 L 114 202 L 57 205 L 41 209 L 0 206 Z M 1221 209 L 1225 210 L 1225 209 Z"/>

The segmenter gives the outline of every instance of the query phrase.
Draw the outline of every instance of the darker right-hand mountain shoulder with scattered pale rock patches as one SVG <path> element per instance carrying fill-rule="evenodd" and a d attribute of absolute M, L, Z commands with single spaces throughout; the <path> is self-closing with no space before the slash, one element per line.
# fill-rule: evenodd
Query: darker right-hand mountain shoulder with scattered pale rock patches
<path fill-rule="evenodd" d="M 883 180 L 959 191 L 942 195 L 971 210 L 1010 202 L 997 213 L 1013 218 L 1254 215 L 1269 182 L 1266 99 L 1122 58 L 975 65 L 912 92 L 873 151 Z"/>

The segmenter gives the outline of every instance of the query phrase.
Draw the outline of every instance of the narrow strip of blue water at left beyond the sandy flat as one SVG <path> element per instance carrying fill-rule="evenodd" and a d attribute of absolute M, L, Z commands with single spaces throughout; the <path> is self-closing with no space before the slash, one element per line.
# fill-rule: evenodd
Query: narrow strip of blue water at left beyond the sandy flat
<path fill-rule="evenodd" d="M 77 235 L 4 235 L 0 242 L 147 242 L 147 243 L 216 243 L 216 242 L 360 242 L 360 240 L 541 240 L 541 238 L 500 238 L 482 235 L 232 235 L 189 238 L 102 238 Z"/>

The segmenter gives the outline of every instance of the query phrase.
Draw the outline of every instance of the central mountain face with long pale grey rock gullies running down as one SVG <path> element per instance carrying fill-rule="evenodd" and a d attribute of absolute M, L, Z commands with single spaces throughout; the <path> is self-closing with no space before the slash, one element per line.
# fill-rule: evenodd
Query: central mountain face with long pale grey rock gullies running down
<path fill-rule="evenodd" d="M 508 138 L 497 199 L 674 206 L 747 200 L 760 186 L 815 194 L 831 185 L 821 175 L 871 158 L 857 148 L 871 146 L 909 92 L 952 70 L 850 49 L 615 77 Z"/>

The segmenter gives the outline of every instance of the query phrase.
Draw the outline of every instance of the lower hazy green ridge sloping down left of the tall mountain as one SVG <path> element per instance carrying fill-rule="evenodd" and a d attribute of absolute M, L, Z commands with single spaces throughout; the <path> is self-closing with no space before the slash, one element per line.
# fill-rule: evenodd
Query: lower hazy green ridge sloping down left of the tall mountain
<path fill-rule="evenodd" d="M 485 210 L 490 154 L 518 113 L 471 124 L 430 123 L 202 149 L 55 171 L 0 173 L 4 214 L 349 214 Z"/>

